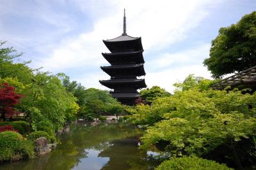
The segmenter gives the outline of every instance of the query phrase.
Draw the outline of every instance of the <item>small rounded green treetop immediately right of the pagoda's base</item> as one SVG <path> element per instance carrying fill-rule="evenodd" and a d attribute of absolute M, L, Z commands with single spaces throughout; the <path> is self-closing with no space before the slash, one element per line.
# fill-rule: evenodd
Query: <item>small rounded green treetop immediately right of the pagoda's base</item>
<path fill-rule="evenodd" d="M 147 88 L 147 89 L 141 90 L 140 96 L 147 103 L 152 103 L 152 101 L 154 101 L 154 99 L 156 99 L 157 97 L 170 96 L 170 93 L 164 89 L 161 89 L 161 87 L 153 86 L 150 89 Z"/>

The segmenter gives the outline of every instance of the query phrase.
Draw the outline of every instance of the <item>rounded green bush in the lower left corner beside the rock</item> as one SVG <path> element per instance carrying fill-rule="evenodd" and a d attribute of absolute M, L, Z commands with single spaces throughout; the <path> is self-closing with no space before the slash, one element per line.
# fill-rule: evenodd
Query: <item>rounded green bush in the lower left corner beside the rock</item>
<path fill-rule="evenodd" d="M 1 132 L 0 148 L 0 162 L 34 157 L 33 144 L 17 132 Z"/>

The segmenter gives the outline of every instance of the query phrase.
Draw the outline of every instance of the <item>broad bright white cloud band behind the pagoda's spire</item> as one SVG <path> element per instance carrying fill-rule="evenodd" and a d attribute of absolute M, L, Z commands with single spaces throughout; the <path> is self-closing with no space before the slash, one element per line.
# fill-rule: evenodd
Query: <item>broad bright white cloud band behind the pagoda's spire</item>
<path fill-rule="evenodd" d="M 63 39 L 52 49 L 48 57 L 39 60 L 40 66 L 51 71 L 70 67 L 86 67 L 104 64 L 100 52 L 107 51 L 102 39 L 110 39 L 122 33 L 123 8 L 127 8 L 127 32 L 142 36 L 145 51 L 159 50 L 189 34 L 207 16 L 207 6 L 220 2 L 212 1 L 113 1 L 115 15 L 100 17 L 92 32 L 72 39 Z M 111 8 L 108 9 L 111 11 Z M 97 11 L 95 11 L 97 13 Z M 108 11 L 106 11 L 108 13 Z M 94 65 L 96 66 L 96 65 Z"/>

